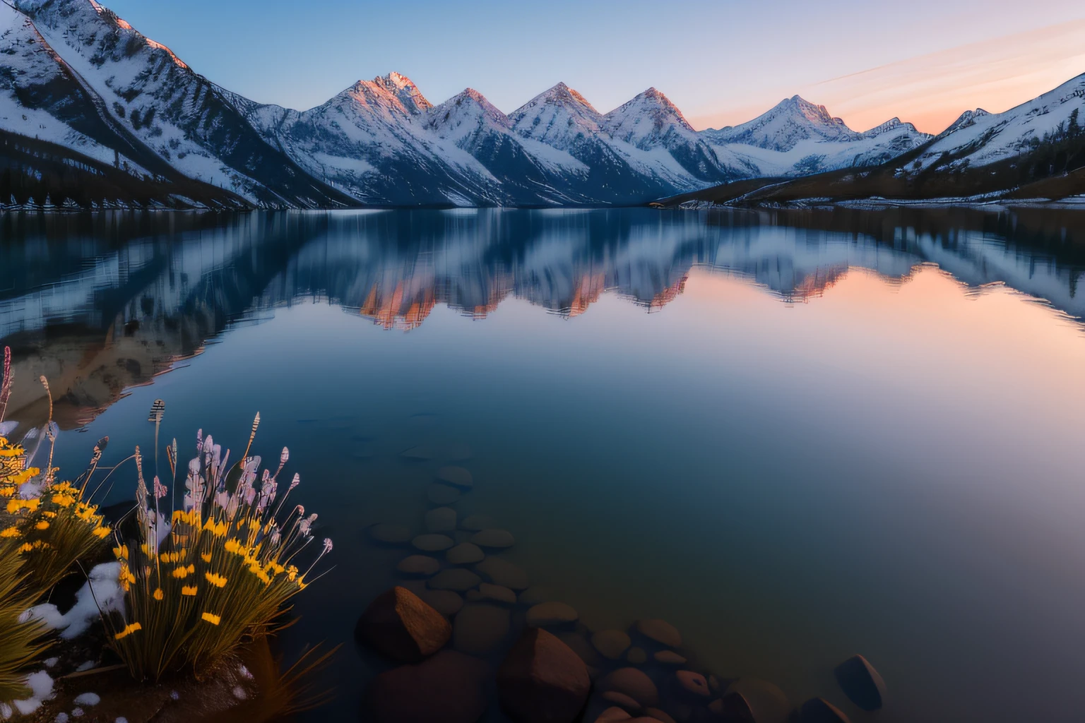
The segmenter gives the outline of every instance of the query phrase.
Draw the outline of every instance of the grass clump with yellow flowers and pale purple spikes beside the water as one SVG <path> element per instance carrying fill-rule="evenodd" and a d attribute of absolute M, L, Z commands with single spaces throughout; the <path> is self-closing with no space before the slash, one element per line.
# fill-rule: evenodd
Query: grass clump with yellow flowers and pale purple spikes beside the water
<path fill-rule="evenodd" d="M 243 643 L 280 629 L 286 603 L 332 548 L 324 540 L 307 554 L 316 515 L 306 516 L 301 505 L 280 515 L 298 476 L 280 496 L 289 451 L 275 474 L 260 473 L 260 457 L 247 456 L 258 424 L 257 414 L 232 467 L 229 450 L 224 454 L 210 435 L 197 432 L 183 504 L 173 512 L 163 508 L 168 491 L 157 477 L 148 488 L 137 451 L 139 533 L 114 548 L 128 612 L 105 617 L 111 646 L 137 680 L 182 670 L 205 676 Z M 176 440 L 167 452 L 176 478 Z M 311 560 L 305 571 L 301 557 Z"/>

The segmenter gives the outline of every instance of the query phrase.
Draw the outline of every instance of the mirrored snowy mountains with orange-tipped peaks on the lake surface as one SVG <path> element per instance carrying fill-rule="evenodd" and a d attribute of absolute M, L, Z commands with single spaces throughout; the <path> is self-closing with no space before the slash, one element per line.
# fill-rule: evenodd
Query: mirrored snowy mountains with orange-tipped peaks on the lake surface
<path fill-rule="evenodd" d="M 515 297 L 566 318 L 613 293 L 659 311 L 690 270 L 807 302 L 850 269 L 905 283 L 936 263 L 983 293 L 1008 286 L 1085 315 L 1085 212 L 456 210 L 9 215 L 0 218 L 0 340 L 15 415 L 39 422 L 44 373 L 81 426 L 229 324 L 320 298 L 388 330 L 436 305 L 484 319 Z"/>

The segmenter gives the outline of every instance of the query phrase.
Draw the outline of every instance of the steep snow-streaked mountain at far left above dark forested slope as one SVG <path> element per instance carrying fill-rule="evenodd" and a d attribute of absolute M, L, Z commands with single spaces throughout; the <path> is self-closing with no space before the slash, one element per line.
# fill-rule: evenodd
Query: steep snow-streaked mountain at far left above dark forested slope
<path fill-rule="evenodd" d="M 268 146 L 168 48 L 93 0 L 16 0 L 0 17 L 3 130 L 254 204 L 349 203 Z"/>

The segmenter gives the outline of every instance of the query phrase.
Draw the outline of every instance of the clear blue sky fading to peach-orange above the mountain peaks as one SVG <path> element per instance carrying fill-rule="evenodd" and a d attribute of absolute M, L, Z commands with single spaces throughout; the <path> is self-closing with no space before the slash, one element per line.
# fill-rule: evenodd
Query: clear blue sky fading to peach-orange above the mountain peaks
<path fill-rule="evenodd" d="M 398 70 L 439 103 L 465 87 L 511 112 L 558 81 L 602 112 L 649 86 L 695 128 L 801 94 L 865 130 L 937 132 L 1085 73 L 1080 0 L 105 0 L 199 73 L 308 108 Z"/>

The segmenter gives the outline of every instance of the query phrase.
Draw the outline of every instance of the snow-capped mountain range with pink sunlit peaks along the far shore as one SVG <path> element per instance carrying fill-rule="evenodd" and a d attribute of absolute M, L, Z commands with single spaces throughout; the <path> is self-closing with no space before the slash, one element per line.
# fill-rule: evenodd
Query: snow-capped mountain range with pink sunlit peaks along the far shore
<path fill-rule="evenodd" d="M 0 5 L 0 203 L 15 207 L 635 205 L 1035 151 L 1043 122 L 984 135 L 992 118 L 934 138 L 898 118 L 858 132 L 796 95 L 697 131 L 654 88 L 600 113 L 558 83 L 505 114 L 472 89 L 433 105 L 396 73 L 294 111 L 217 86 L 94 0 Z M 1000 151 L 960 155 L 958 141 L 995 137 Z"/>

